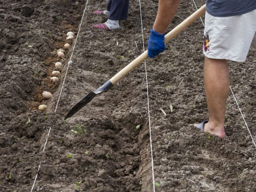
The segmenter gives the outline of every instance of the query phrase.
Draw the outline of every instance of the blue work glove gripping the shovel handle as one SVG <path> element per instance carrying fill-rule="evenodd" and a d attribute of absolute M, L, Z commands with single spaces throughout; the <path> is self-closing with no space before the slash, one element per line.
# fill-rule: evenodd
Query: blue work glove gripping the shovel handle
<path fill-rule="evenodd" d="M 164 34 L 159 34 L 151 29 L 151 33 L 148 39 L 148 57 L 153 58 L 164 50 Z"/>

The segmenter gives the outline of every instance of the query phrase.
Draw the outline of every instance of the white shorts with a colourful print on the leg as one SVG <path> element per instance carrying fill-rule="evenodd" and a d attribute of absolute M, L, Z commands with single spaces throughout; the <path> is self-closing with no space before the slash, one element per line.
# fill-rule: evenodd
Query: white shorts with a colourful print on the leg
<path fill-rule="evenodd" d="M 206 12 L 203 52 L 208 58 L 245 61 L 250 47 L 256 48 L 256 10 L 231 17 Z"/>

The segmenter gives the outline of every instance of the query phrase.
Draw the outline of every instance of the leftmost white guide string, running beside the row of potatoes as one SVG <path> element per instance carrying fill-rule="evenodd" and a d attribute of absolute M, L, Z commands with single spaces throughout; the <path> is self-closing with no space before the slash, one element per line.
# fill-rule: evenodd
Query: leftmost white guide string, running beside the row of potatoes
<path fill-rule="evenodd" d="M 85 13 L 85 10 L 86 10 L 86 7 L 87 7 L 87 3 L 88 3 L 88 0 L 86 1 L 86 4 L 85 4 L 84 13 Z M 77 39 L 78 39 L 78 35 L 79 35 L 80 29 L 81 29 L 81 24 L 82 24 L 83 19 L 84 19 L 84 13 L 83 13 L 83 16 L 82 16 L 82 19 L 81 19 L 81 23 L 80 23 L 80 25 L 79 25 L 79 30 L 78 30 L 77 35 L 76 35 L 76 41 L 77 41 Z M 73 47 L 73 50 L 72 50 L 72 53 L 71 53 L 71 56 L 70 56 L 70 61 L 68 61 L 67 71 L 68 71 L 68 69 L 69 69 L 70 64 L 72 64 L 72 60 L 71 60 L 71 59 L 72 59 L 73 52 L 74 52 L 75 47 L 76 47 L 76 41 L 75 41 L 75 44 L 74 44 L 74 47 Z M 63 84 L 62 84 L 62 86 L 61 86 L 61 92 L 60 92 L 60 95 L 59 95 L 59 97 L 58 97 L 58 102 L 57 102 L 57 105 L 56 105 L 56 108 L 55 108 L 54 113 L 56 113 L 56 111 L 57 111 L 58 103 L 59 103 L 59 100 L 60 100 L 60 97 L 61 97 L 62 89 L 63 89 L 63 87 L 64 87 L 65 79 L 66 79 L 66 76 L 67 76 L 67 71 L 66 71 L 66 74 L 65 74 L 65 77 L 64 77 L 64 80 L 63 80 Z M 47 135 L 47 137 L 46 137 L 46 141 L 45 141 L 45 144 L 44 144 L 44 150 L 45 150 L 45 147 L 46 147 L 46 145 L 47 145 L 47 140 L 48 140 L 48 137 L 49 137 L 51 128 L 52 128 L 52 127 L 49 128 L 49 132 L 48 132 L 48 135 Z M 44 151 L 44 150 L 43 150 L 43 151 Z M 38 166 L 37 174 L 35 175 L 35 180 L 34 180 L 34 183 L 33 183 L 32 188 L 31 188 L 31 192 L 32 192 L 33 189 L 34 189 L 35 182 L 36 182 L 36 179 L 37 179 L 37 177 L 38 177 L 38 173 L 39 173 L 40 166 L 41 166 L 41 161 L 40 161 L 39 166 Z"/>

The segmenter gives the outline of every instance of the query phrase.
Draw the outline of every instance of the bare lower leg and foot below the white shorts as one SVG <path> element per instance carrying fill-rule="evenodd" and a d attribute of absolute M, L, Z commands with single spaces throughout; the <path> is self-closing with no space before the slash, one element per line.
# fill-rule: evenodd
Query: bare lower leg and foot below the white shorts
<path fill-rule="evenodd" d="M 204 131 L 219 137 L 225 137 L 224 121 L 229 85 L 227 60 L 205 57 L 204 89 L 209 110 L 209 122 L 204 125 Z"/>

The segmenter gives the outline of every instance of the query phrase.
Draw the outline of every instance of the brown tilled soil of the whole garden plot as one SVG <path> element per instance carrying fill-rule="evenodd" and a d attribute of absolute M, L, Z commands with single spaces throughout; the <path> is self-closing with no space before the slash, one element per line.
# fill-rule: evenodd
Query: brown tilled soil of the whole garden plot
<path fill-rule="evenodd" d="M 145 48 L 157 3 L 141 1 Z M 205 1 L 196 3 L 199 7 Z M 0 191 L 31 191 L 37 173 L 33 191 L 153 191 L 144 64 L 63 120 L 90 90 L 143 53 L 139 1 L 130 0 L 128 20 L 120 21 L 120 29 L 91 28 L 107 19 L 93 15 L 106 4 L 0 0 Z M 168 31 L 195 10 L 192 1 L 181 0 Z M 75 33 L 74 40 L 66 40 L 68 31 Z M 232 94 L 225 123 L 228 137 L 220 139 L 191 125 L 208 117 L 203 31 L 198 19 L 165 52 L 146 61 L 156 191 L 256 191 L 256 149 Z M 65 43 L 71 47 L 58 58 L 57 50 Z M 246 62 L 229 63 L 231 88 L 253 138 L 255 55 L 251 49 Z M 57 61 L 63 64 L 60 82 L 52 83 Z M 43 91 L 52 98 L 45 100 Z M 38 110 L 41 104 L 48 106 L 46 111 Z"/>

